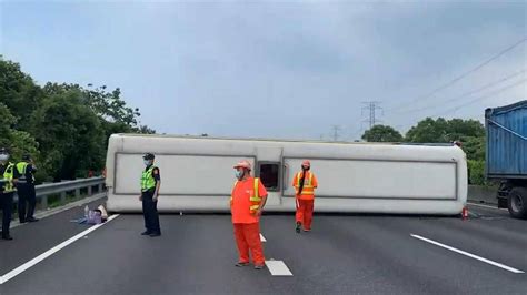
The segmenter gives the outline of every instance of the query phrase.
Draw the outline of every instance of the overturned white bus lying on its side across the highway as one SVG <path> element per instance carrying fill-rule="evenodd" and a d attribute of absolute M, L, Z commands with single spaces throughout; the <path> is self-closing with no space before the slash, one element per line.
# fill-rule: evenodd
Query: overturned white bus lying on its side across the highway
<path fill-rule="evenodd" d="M 113 134 L 110 211 L 141 211 L 146 152 L 161 171 L 160 212 L 227 212 L 232 165 L 242 159 L 269 192 L 266 211 L 295 211 L 291 181 L 304 159 L 319 181 L 316 212 L 455 215 L 467 200 L 466 156 L 457 146 Z"/>

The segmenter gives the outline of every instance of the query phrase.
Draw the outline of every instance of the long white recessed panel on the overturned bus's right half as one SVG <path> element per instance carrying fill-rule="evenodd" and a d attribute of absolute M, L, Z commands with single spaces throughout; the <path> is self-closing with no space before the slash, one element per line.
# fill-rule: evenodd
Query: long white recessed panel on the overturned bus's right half
<path fill-rule="evenodd" d="M 301 159 L 285 159 L 299 167 Z M 311 160 L 319 197 L 456 200 L 456 162 Z M 297 171 L 289 170 L 292 182 Z M 285 196 L 294 196 L 289 183 Z"/>

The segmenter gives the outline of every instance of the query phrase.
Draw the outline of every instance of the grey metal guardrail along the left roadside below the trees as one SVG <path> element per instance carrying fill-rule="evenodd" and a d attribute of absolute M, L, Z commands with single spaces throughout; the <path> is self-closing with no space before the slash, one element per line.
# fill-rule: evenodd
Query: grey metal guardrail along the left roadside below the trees
<path fill-rule="evenodd" d="M 66 202 L 68 193 L 74 193 L 76 197 L 80 197 L 81 190 L 87 190 L 88 195 L 93 195 L 93 192 L 102 193 L 105 186 L 105 177 L 90 177 L 74 181 L 62 181 L 56 183 L 47 183 L 34 186 L 37 194 L 37 202 L 40 201 L 42 210 L 48 208 L 48 196 L 60 195 L 60 201 Z M 96 187 L 96 191 L 93 191 Z M 18 196 L 16 196 L 18 199 Z"/>

